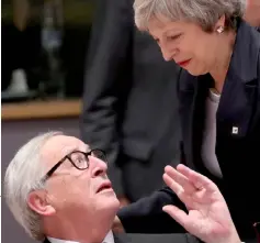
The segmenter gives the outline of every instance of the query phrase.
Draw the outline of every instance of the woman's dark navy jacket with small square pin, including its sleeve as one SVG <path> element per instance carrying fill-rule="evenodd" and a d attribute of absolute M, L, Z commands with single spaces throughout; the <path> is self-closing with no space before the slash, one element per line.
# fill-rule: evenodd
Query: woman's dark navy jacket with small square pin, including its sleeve
<path fill-rule="evenodd" d="M 207 78 L 181 73 L 183 163 L 218 185 L 239 234 L 242 239 L 253 238 L 252 224 L 260 221 L 260 33 L 240 21 L 216 114 L 216 156 L 222 180 L 213 178 L 201 159 L 205 99 L 211 86 Z M 234 126 L 238 128 L 237 134 L 233 134 Z M 174 221 L 161 210 L 168 203 L 184 208 L 165 188 L 123 208 L 118 217 L 126 232 L 176 232 Z"/>

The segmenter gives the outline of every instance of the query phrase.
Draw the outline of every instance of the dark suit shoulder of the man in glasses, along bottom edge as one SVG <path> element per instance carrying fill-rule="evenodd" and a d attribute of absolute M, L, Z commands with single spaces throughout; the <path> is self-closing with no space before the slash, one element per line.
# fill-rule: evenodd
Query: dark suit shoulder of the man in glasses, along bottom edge
<path fill-rule="evenodd" d="M 190 234 L 114 234 L 115 243 L 199 243 Z M 47 239 L 43 243 L 50 243 Z"/>

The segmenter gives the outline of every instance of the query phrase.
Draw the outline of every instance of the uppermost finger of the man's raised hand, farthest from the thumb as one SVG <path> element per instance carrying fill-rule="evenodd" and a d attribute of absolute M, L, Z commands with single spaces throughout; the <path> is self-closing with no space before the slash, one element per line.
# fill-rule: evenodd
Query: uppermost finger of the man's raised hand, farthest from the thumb
<path fill-rule="evenodd" d="M 184 175 L 194 185 L 196 189 L 205 188 L 207 192 L 214 192 L 217 190 L 216 185 L 207 177 L 190 169 L 189 167 L 180 164 L 177 166 L 177 170 Z"/>

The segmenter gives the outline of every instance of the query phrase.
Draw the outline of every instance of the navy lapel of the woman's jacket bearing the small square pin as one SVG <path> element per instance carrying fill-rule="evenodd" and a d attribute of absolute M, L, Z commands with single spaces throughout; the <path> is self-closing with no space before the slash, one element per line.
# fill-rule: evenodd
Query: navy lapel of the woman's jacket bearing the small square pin
<path fill-rule="evenodd" d="M 242 82 L 227 78 L 216 119 L 217 141 L 224 137 L 245 137 L 250 128 L 256 102 L 257 80 Z"/>

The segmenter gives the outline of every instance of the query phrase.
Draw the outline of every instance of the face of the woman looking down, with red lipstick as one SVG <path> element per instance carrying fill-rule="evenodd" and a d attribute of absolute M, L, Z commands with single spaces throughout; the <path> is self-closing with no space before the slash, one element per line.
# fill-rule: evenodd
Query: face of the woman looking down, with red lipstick
<path fill-rule="evenodd" d="M 224 25 L 221 22 L 224 21 L 221 19 L 216 29 Z M 160 46 L 163 58 L 173 59 L 191 75 L 210 73 L 216 65 L 216 57 L 221 51 L 221 34 L 216 30 L 207 33 L 195 23 L 170 22 L 161 18 L 150 20 L 148 29 Z"/>

